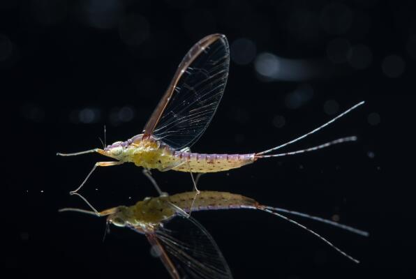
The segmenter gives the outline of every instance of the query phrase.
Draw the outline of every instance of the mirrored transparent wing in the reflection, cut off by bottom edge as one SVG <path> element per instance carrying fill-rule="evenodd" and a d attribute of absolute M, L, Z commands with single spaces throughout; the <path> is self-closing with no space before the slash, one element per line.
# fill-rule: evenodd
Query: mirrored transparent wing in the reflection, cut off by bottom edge
<path fill-rule="evenodd" d="M 175 217 L 147 239 L 172 278 L 232 278 L 212 236 L 191 217 Z"/>

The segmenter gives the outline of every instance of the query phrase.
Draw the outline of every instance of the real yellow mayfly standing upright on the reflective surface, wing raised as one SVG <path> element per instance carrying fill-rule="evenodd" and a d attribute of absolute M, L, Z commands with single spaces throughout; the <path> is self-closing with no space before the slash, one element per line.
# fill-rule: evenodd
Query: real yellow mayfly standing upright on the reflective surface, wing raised
<path fill-rule="evenodd" d="M 357 137 L 343 137 L 308 149 L 287 153 L 267 154 L 315 133 L 341 116 L 354 110 L 358 103 L 324 125 L 272 149 L 248 154 L 202 154 L 192 153 L 191 146 L 198 141 L 214 116 L 223 96 L 228 77 L 230 54 L 228 41 L 222 34 L 212 34 L 193 45 L 179 64 L 172 82 L 151 114 L 140 135 L 125 142 L 114 142 L 104 149 L 91 149 L 77 153 L 57 153 L 59 156 L 77 156 L 85 153 L 100 153 L 115 159 L 98 162 L 81 185 L 80 190 L 96 167 L 121 165 L 126 162 L 144 167 L 144 171 L 170 169 L 179 172 L 207 173 L 235 169 L 255 162 L 260 158 L 288 156 L 315 151 L 332 144 L 351 142 Z M 266 155 L 267 154 L 267 155 Z M 149 174 L 149 172 L 147 172 Z M 195 190 L 196 183 L 194 181 Z M 156 187 L 161 194 L 161 190 Z"/>

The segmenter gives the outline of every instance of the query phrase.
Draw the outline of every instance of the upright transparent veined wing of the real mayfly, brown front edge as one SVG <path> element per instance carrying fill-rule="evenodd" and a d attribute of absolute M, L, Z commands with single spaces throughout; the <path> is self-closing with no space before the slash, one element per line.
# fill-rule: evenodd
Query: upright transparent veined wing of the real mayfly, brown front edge
<path fill-rule="evenodd" d="M 202 38 L 179 64 L 172 82 L 144 126 L 174 149 L 191 146 L 205 131 L 227 83 L 230 52 L 224 35 Z"/>

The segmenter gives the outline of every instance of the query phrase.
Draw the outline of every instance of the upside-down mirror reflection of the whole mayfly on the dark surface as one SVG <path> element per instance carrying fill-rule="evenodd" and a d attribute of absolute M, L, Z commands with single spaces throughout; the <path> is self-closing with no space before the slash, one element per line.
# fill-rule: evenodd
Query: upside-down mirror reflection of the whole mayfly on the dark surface
<path fill-rule="evenodd" d="M 79 195 L 79 194 L 76 194 Z M 82 199 L 81 195 L 79 195 Z M 84 199 L 87 202 L 86 199 Z M 89 204 L 89 202 L 87 202 Z M 290 223 L 306 229 L 329 246 L 348 257 L 353 262 L 358 260 L 346 254 L 327 239 L 311 229 L 297 223 L 281 213 L 288 213 L 304 218 L 311 218 L 329 225 L 346 229 L 355 234 L 368 236 L 353 227 L 335 223 L 332 220 L 310 216 L 297 211 L 265 206 L 254 199 L 242 195 L 201 191 L 195 199 L 195 193 L 187 192 L 171 196 L 146 198 L 133 206 L 117 206 L 101 212 L 84 209 L 66 208 L 59 210 L 76 211 L 96 216 L 107 216 L 107 225 L 128 227 L 135 232 L 144 234 L 152 246 L 154 254 L 161 258 L 172 278 L 232 278 L 230 268 L 207 229 L 202 227 L 194 218 L 188 216 L 191 211 L 220 210 L 220 209 L 258 209 L 288 220 Z"/>

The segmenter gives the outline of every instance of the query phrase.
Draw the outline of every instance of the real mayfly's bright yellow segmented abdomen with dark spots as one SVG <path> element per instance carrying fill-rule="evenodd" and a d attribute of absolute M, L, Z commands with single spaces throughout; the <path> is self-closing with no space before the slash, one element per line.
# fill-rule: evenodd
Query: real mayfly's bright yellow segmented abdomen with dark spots
<path fill-rule="evenodd" d="M 253 163 L 255 153 L 251 154 L 200 154 L 173 151 L 172 159 L 180 165 L 174 167 L 179 172 L 223 172 Z"/>

